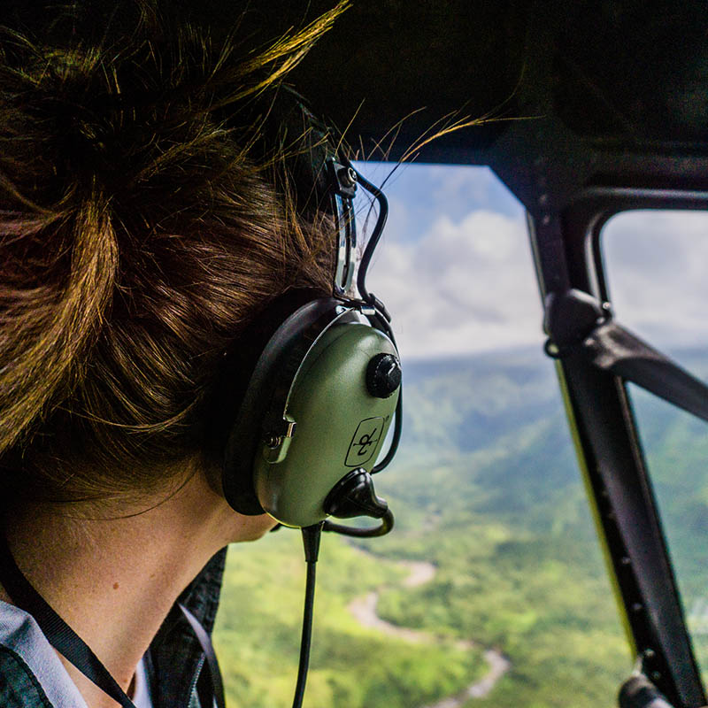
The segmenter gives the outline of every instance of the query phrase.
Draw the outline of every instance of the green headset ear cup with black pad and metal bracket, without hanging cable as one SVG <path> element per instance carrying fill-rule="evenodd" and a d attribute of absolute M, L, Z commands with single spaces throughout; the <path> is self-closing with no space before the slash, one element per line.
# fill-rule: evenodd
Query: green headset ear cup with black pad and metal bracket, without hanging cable
<path fill-rule="evenodd" d="M 375 495 L 371 474 L 389 464 L 400 439 L 401 367 L 389 313 L 366 289 L 366 271 L 388 204 L 345 159 L 326 158 L 322 172 L 317 177 L 324 178 L 338 237 L 332 296 L 300 293 L 299 302 L 290 296 L 299 306 L 275 328 L 239 392 L 222 484 L 228 503 L 243 514 L 268 512 L 289 527 L 310 527 L 329 515 L 370 516 L 382 519 L 381 526 L 365 530 L 327 521 L 324 530 L 382 535 L 393 516 Z M 378 219 L 355 277 L 358 186 L 378 203 Z M 276 311 L 288 312 L 285 299 L 276 302 Z M 377 465 L 394 420 L 389 452 Z"/>

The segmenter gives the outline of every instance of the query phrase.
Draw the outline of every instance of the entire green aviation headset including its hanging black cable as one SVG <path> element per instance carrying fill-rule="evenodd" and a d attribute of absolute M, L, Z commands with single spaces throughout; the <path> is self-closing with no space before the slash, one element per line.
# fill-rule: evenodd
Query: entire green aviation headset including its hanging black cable
<path fill-rule="evenodd" d="M 283 131 L 287 134 L 290 128 L 309 142 L 296 151 L 289 174 L 296 182 L 298 211 L 312 215 L 324 208 L 334 219 L 332 293 L 287 293 L 240 337 L 219 379 L 215 437 L 223 450 L 222 488 L 228 504 L 236 512 L 267 512 L 282 526 L 302 529 L 307 582 L 293 701 L 293 708 L 301 708 L 320 533 L 377 536 L 393 527 L 393 514 L 376 496 L 372 474 L 396 454 L 403 404 L 389 312 L 366 289 L 366 273 L 389 212 L 386 197 L 346 158 L 327 155 L 328 131 L 301 96 L 285 88 L 281 96 L 284 108 L 277 103 L 269 108 L 264 133 L 268 135 L 270 121 L 273 144 L 288 144 Z M 378 204 L 378 219 L 360 262 L 354 207 L 359 187 Z M 250 372 L 245 385 L 243 371 Z M 389 450 L 378 461 L 391 426 Z M 352 527 L 334 523 L 330 516 L 368 516 L 381 523 Z M 213 652 L 205 651 L 220 705 L 219 668 Z"/>

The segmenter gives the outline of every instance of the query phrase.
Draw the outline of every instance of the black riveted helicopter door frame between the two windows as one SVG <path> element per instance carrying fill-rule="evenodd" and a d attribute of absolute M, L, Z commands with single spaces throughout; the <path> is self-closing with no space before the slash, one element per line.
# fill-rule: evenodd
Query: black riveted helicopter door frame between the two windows
<path fill-rule="evenodd" d="M 609 302 L 602 227 L 635 209 L 705 210 L 708 193 L 591 188 L 557 213 L 529 214 L 542 296 L 573 288 Z M 677 708 L 703 706 L 704 687 L 625 382 L 581 357 L 560 358 L 556 368 L 630 646 L 643 673 Z"/>

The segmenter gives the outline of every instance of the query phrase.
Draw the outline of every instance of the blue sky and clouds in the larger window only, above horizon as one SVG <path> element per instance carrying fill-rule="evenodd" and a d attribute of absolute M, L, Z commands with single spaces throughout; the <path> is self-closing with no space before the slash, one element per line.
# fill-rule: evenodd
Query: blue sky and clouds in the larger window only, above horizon
<path fill-rule="evenodd" d="M 393 167 L 358 165 L 376 184 Z M 524 210 L 489 168 L 403 165 L 384 193 L 368 288 L 394 317 L 402 358 L 543 343 Z"/>

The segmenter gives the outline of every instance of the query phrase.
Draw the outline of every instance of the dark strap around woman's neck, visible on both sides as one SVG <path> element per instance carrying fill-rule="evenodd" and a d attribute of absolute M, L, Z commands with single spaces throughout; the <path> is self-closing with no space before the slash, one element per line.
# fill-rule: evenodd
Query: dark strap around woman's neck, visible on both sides
<path fill-rule="evenodd" d="M 12 597 L 12 602 L 31 614 L 49 643 L 58 650 L 73 666 L 76 666 L 89 681 L 103 690 L 123 708 L 135 708 L 135 704 L 121 689 L 100 659 L 90 649 L 76 632 L 69 627 L 50 604 L 35 590 L 32 584 L 19 570 L 12 553 L 8 548 L 4 534 L 0 534 L 0 583 Z M 207 665 L 212 675 L 214 702 L 217 708 L 225 708 L 224 689 L 219 673 L 219 665 L 212 647 L 212 641 L 206 630 L 196 620 L 196 617 L 185 607 L 180 609 L 196 634 L 196 638 L 204 650 Z M 211 706 L 204 706 L 211 708 Z"/>

